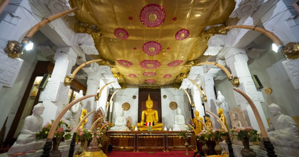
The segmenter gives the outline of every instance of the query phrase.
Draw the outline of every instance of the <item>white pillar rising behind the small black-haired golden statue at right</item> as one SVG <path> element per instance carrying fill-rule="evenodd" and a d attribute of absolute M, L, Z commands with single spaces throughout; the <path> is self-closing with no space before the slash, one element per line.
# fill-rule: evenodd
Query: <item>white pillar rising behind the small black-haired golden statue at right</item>
<path fill-rule="evenodd" d="M 204 92 L 207 96 L 207 102 L 205 103 L 205 110 L 210 111 L 217 115 L 217 109 L 216 109 L 216 97 L 214 92 L 214 74 L 204 74 Z M 217 122 L 217 120 L 210 115 L 211 121 L 213 123 L 214 128 L 220 128 L 220 124 Z"/>

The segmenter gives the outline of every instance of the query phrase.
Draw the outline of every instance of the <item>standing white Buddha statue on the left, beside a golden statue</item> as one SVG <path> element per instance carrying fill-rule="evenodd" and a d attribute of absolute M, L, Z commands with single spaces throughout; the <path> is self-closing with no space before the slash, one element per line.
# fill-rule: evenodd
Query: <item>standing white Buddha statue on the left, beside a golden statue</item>
<path fill-rule="evenodd" d="M 83 97 L 83 91 L 80 90 L 78 96 L 76 99 L 79 99 L 80 97 Z M 71 107 L 71 115 L 70 115 L 70 125 L 76 128 L 76 126 L 79 123 L 79 118 L 81 115 L 81 109 L 82 109 L 83 103 L 82 101 L 76 103 L 74 106 Z"/>

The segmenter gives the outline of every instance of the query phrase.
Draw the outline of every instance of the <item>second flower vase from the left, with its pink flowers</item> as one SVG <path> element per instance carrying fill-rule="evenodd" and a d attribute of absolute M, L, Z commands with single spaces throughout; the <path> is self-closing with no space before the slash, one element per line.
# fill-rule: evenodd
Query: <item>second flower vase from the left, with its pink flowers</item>
<path fill-rule="evenodd" d="M 90 139 L 90 138 L 92 138 L 92 133 L 89 129 L 79 128 L 79 132 L 76 136 L 77 144 L 79 142 L 81 143 L 80 148 L 77 150 L 78 155 L 80 155 L 85 150 L 85 148 L 84 148 L 85 141 L 88 141 L 88 139 Z"/>

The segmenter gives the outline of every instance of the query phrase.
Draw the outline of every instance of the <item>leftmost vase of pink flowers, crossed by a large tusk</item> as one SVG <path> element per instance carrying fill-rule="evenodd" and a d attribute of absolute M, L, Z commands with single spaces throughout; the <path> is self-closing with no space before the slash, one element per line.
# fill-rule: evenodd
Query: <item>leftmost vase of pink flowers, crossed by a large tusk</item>
<path fill-rule="evenodd" d="M 54 120 L 51 120 L 52 123 L 50 124 L 47 122 L 43 127 L 42 131 L 36 133 L 36 140 L 41 140 L 41 139 L 46 139 L 48 137 L 48 133 L 54 123 Z M 71 132 L 73 130 L 73 126 L 68 126 L 64 121 L 60 121 L 55 133 L 54 133 L 54 138 L 53 138 L 53 149 L 51 150 L 51 155 L 50 156 L 61 156 L 60 150 L 58 150 L 59 144 L 61 141 L 65 141 L 71 138 Z"/>

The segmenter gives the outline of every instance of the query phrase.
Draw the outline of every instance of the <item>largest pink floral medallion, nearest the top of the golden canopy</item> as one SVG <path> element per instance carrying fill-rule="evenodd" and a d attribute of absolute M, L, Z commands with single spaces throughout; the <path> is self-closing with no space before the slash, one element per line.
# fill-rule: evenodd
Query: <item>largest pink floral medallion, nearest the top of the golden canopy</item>
<path fill-rule="evenodd" d="M 140 12 L 140 21 L 147 27 L 158 27 L 164 20 L 164 9 L 158 4 L 147 4 Z"/>

